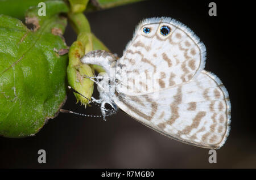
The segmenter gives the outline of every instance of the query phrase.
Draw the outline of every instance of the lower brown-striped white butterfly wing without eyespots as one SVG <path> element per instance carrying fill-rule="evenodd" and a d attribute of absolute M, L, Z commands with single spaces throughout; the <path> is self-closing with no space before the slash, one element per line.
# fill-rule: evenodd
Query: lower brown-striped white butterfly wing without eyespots
<path fill-rule="evenodd" d="M 131 117 L 154 130 L 203 148 L 220 148 L 228 136 L 230 102 L 216 75 L 201 71 L 188 83 L 143 96 L 118 94 L 114 102 Z"/>

